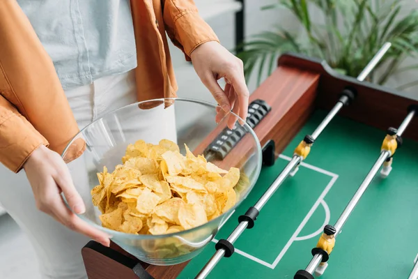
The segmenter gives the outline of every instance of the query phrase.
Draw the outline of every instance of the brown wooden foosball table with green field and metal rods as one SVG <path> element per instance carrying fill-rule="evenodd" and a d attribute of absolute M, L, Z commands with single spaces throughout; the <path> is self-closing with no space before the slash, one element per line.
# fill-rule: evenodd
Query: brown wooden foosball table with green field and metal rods
<path fill-rule="evenodd" d="M 364 82 L 384 52 L 357 79 L 280 56 L 250 96 L 261 174 L 203 252 L 155 266 L 91 241 L 88 278 L 418 278 L 418 101 Z"/>

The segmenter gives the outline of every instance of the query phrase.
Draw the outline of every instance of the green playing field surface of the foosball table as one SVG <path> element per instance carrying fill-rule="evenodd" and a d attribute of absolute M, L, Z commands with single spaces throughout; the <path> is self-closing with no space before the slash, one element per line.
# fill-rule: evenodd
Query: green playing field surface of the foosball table
<path fill-rule="evenodd" d="M 325 117 L 316 112 L 215 239 L 226 239 L 285 167 L 304 135 Z M 417 119 L 413 121 L 418 121 Z M 398 125 L 400 123 L 392 123 Z M 208 278 L 293 278 L 311 260 L 323 225 L 334 225 L 380 153 L 385 132 L 337 116 L 299 172 L 279 187 L 256 225 L 235 242 Z M 418 142 L 403 141 L 387 179 L 376 176 L 336 238 L 324 279 L 408 278 L 418 253 Z M 215 252 L 214 240 L 178 278 L 194 278 Z"/>

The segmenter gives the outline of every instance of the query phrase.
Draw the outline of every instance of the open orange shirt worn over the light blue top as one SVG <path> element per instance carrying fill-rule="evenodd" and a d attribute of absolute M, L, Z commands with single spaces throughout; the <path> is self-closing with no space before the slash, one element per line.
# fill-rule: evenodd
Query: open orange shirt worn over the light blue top
<path fill-rule="evenodd" d="M 190 60 L 217 36 L 192 0 L 131 0 L 137 46 L 137 99 L 176 97 L 166 32 Z M 19 172 L 40 144 L 62 153 L 79 129 L 54 65 L 16 0 L 0 1 L 0 163 Z M 71 146 L 66 161 L 84 151 Z"/>

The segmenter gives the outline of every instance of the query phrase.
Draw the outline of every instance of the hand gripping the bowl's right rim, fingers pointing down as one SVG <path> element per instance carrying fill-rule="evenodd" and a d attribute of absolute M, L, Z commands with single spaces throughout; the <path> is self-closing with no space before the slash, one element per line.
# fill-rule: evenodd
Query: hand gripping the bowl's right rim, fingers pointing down
<path fill-rule="evenodd" d="M 245 84 L 242 61 L 215 41 L 196 47 L 190 57 L 197 75 L 222 107 L 222 110 L 217 108 L 215 120 L 221 121 L 232 110 L 245 121 L 249 91 Z M 224 89 L 217 83 L 222 77 L 226 82 Z M 237 118 L 231 115 L 228 119 L 229 128 L 233 127 L 235 121 Z"/>

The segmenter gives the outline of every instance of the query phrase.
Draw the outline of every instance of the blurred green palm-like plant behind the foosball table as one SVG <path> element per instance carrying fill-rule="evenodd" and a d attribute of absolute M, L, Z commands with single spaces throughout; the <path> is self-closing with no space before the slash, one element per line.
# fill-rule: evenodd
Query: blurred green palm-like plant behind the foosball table
<path fill-rule="evenodd" d="M 392 47 L 378 65 L 382 73 L 373 72 L 367 79 L 385 84 L 396 72 L 418 68 L 399 68 L 405 58 L 418 54 L 418 10 L 401 17 L 402 7 L 402 0 L 277 0 L 263 9 L 282 8 L 293 13 L 302 32 L 297 36 L 277 27 L 243 43 L 244 50 L 238 56 L 244 62 L 245 76 L 249 79 L 257 71 L 259 84 L 265 68 L 270 75 L 281 53 L 297 52 L 324 59 L 339 73 L 357 77 L 389 42 Z M 399 89 L 417 84 L 411 82 Z"/>

